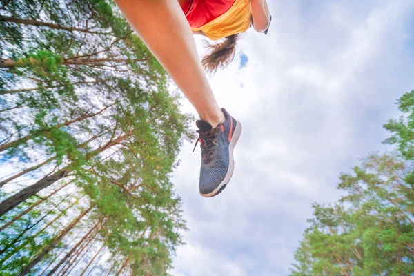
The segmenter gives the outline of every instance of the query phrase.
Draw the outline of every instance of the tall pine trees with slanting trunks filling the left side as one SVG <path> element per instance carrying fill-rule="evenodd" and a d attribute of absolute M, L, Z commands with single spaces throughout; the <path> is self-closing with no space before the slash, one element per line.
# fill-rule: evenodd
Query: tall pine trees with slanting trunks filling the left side
<path fill-rule="evenodd" d="M 2 275 L 166 275 L 190 117 L 115 4 L 0 5 Z M 28 179 L 30 180 L 30 179 Z M 105 253 L 105 254 L 103 254 Z"/>

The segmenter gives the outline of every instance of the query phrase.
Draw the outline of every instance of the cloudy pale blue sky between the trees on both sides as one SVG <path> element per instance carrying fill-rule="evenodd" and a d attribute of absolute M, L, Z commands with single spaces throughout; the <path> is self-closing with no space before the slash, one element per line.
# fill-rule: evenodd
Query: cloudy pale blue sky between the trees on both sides
<path fill-rule="evenodd" d="M 190 230 L 174 276 L 288 275 L 311 203 L 339 199 L 341 172 L 390 150 L 382 125 L 414 89 L 413 0 L 268 6 L 268 34 L 248 30 L 235 61 L 208 77 L 243 126 L 226 190 L 201 197 L 200 150 L 181 150 L 172 181 Z M 183 110 L 195 114 L 186 100 Z"/>

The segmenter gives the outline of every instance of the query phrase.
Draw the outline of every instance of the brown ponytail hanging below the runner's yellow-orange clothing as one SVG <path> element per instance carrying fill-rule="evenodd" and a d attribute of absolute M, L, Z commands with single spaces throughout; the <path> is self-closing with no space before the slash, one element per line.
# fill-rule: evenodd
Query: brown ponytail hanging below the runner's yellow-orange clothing
<path fill-rule="evenodd" d="M 201 59 L 201 64 L 207 72 L 215 73 L 218 68 L 225 68 L 233 61 L 236 52 L 236 42 L 240 34 L 225 37 L 225 41 L 216 44 L 207 44 L 211 51 Z"/>

